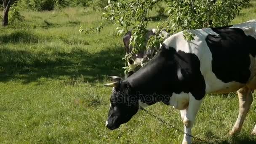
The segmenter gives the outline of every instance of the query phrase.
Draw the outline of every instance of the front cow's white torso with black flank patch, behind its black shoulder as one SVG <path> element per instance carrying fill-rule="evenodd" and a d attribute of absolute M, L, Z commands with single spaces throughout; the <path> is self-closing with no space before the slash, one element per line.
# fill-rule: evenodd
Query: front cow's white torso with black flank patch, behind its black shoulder
<path fill-rule="evenodd" d="M 164 43 L 198 57 L 206 93 L 229 93 L 244 85 L 255 89 L 255 27 L 256 21 L 251 20 L 234 26 L 196 29 L 191 30 L 192 41 L 184 40 L 183 32 L 179 32 Z"/>

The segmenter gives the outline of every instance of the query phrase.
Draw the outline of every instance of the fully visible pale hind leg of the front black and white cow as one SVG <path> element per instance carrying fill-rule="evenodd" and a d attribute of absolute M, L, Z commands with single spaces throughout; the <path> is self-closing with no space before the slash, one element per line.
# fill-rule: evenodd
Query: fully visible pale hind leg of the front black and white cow
<path fill-rule="evenodd" d="M 241 131 L 245 117 L 251 107 L 251 103 L 253 102 L 253 97 L 252 97 L 250 88 L 248 87 L 240 88 L 237 91 L 237 94 L 239 99 L 239 114 L 237 117 L 237 121 L 235 122 L 235 125 L 233 126 L 232 130 L 229 132 L 229 134 L 231 135 Z"/>

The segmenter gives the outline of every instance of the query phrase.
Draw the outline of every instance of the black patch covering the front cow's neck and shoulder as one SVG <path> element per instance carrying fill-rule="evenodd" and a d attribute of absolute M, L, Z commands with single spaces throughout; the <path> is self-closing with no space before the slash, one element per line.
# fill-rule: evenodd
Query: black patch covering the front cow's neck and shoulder
<path fill-rule="evenodd" d="M 178 72 L 181 72 L 179 77 Z M 169 104 L 172 93 L 190 92 L 197 100 L 205 96 L 205 80 L 198 57 L 176 52 L 172 47 L 167 49 L 164 44 L 145 67 L 124 81 L 131 84 L 131 93 L 149 105 L 158 101 Z"/>

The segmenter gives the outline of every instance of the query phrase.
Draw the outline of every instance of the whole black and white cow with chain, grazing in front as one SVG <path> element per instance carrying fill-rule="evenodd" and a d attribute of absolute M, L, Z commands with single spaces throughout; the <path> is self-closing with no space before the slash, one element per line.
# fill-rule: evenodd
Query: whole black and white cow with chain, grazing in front
<path fill-rule="evenodd" d="M 239 114 L 230 134 L 239 132 L 256 89 L 256 20 L 220 28 L 191 30 L 168 37 L 148 64 L 125 80 L 113 77 L 106 126 L 127 123 L 139 107 L 162 101 L 180 110 L 184 132 L 191 134 L 205 94 L 237 91 Z M 256 133 L 256 126 L 253 129 Z M 192 138 L 184 135 L 183 144 Z"/>

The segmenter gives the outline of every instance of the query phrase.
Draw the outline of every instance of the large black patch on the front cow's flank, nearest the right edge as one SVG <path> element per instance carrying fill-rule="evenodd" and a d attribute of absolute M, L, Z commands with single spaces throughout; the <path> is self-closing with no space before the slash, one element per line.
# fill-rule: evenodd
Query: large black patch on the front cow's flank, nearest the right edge
<path fill-rule="evenodd" d="M 212 28 L 219 35 L 205 41 L 212 53 L 212 71 L 224 83 L 246 83 L 251 75 L 250 57 L 256 55 L 256 40 L 239 28 Z"/>

